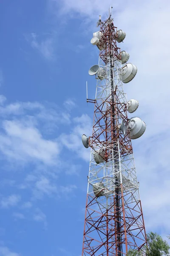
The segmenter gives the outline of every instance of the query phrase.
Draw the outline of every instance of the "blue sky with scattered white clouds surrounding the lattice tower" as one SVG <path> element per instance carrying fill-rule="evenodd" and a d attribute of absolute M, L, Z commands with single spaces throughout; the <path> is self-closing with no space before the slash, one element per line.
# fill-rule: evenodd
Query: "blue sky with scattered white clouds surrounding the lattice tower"
<path fill-rule="evenodd" d="M 112 4 L 138 73 L 125 84 L 147 130 L 133 141 L 146 230 L 170 229 L 166 0 L 3 1 L 0 8 L 0 256 L 80 256 L 98 63 L 90 44 Z"/>

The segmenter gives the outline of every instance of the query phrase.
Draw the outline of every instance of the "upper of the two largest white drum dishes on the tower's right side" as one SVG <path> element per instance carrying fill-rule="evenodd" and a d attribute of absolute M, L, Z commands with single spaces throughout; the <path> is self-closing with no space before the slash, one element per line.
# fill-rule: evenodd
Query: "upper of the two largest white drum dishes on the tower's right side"
<path fill-rule="evenodd" d="M 128 83 L 132 81 L 132 79 L 136 76 L 137 67 L 131 63 L 127 63 L 124 67 L 122 67 L 122 74 L 120 78 L 123 83 Z"/>

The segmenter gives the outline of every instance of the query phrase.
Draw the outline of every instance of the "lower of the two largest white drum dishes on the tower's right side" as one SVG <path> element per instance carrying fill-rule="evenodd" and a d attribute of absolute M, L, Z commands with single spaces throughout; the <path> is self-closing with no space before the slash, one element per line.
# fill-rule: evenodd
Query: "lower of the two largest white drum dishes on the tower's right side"
<path fill-rule="evenodd" d="M 146 124 L 139 117 L 130 118 L 128 126 L 130 131 L 130 138 L 132 140 L 141 137 L 146 130 Z"/>

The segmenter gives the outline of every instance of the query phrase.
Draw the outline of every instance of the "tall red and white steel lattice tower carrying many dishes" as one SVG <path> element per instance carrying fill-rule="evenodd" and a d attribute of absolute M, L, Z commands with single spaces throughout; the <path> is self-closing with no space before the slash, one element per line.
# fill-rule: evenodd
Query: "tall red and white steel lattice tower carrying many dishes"
<path fill-rule="evenodd" d="M 123 83 L 136 75 L 137 68 L 126 63 L 129 54 L 121 52 L 125 32 L 117 30 L 113 19 L 102 21 L 91 44 L 99 48 L 99 64 L 89 70 L 97 80 L 93 134 L 82 135 L 83 145 L 91 147 L 82 256 L 124 256 L 128 250 L 142 250 L 146 233 L 139 197 L 131 139 L 146 128 L 139 117 L 128 119 L 139 103 L 127 102 Z M 122 64 L 125 64 L 122 67 Z"/>

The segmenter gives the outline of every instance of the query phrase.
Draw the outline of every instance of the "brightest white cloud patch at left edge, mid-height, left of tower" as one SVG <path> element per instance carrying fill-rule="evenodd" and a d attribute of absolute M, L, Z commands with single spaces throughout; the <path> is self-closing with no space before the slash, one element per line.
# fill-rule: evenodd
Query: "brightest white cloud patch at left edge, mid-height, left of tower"
<path fill-rule="evenodd" d="M 6 157 L 24 162 L 39 160 L 54 164 L 59 148 L 56 142 L 45 140 L 40 131 L 23 121 L 3 121 L 4 133 L 0 135 L 0 151 Z"/>

